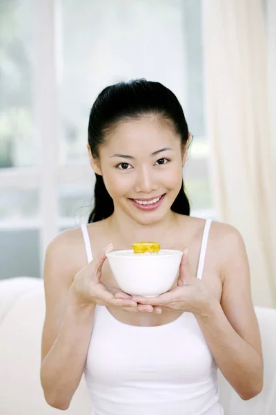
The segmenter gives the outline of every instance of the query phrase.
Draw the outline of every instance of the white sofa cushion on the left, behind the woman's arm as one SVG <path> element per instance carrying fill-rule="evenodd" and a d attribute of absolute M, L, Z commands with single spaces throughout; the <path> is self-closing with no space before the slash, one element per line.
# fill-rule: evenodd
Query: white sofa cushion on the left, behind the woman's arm
<path fill-rule="evenodd" d="M 6 298 L 8 309 L 1 307 L 4 318 L 0 315 L 0 414 L 55 414 L 58 410 L 46 403 L 39 378 L 45 315 L 43 280 L 23 282 L 18 279 L 17 282 L 0 282 L 0 302 L 4 294 L 11 299 L 8 302 Z M 90 400 L 82 379 L 67 413 L 90 415 L 90 412 Z"/>

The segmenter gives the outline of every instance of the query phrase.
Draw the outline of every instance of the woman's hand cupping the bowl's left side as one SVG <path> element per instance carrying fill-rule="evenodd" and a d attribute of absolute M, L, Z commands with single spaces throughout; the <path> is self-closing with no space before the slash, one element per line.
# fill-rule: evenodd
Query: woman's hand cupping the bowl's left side
<path fill-rule="evenodd" d="M 99 306 L 120 307 L 125 311 L 156 311 L 160 313 L 160 307 L 152 307 L 148 304 L 137 304 L 132 296 L 124 293 L 117 287 L 107 287 L 101 283 L 101 269 L 106 261 L 106 253 L 113 249 L 112 243 L 99 251 L 86 267 L 82 268 L 75 276 L 70 288 L 77 302 L 81 305 L 99 304 Z"/>

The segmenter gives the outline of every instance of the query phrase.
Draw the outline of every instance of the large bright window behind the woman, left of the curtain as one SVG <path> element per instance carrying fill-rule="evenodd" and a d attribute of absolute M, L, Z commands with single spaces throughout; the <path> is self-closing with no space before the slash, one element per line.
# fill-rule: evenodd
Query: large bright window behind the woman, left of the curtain
<path fill-rule="evenodd" d="M 0 241 L 18 246 L 17 268 L 8 259 L 12 243 L 1 250 L 1 277 L 41 275 L 50 239 L 87 221 L 90 107 L 104 86 L 121 80 L 146 77 L 177 95 L 194 136 L 184 169 L 192 214 L 213 216 L 201 1 L 37 3 L 0 5 Z"/>

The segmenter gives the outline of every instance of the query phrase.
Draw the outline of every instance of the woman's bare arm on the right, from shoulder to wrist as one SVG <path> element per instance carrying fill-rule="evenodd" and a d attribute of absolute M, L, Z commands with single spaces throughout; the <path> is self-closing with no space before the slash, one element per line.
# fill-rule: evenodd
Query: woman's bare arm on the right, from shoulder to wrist
<path fill-rule="evenodd" d="M 219 238 L 223 291 L 221 305 L 197 316 L 210 351 L 225 378 L 244 400 L 263 387 L 262 344 L 250 293 L 250 273 L 244 241 L 228 225 Z"/>

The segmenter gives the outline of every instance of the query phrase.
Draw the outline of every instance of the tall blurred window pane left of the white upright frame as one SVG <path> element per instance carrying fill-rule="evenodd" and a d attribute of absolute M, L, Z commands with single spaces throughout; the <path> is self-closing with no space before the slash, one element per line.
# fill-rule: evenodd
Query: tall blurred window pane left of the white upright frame
<path fill-rule="evenodd" d="M 35 165 L 30 1 L 0 5 L 0 167 Z"/>

